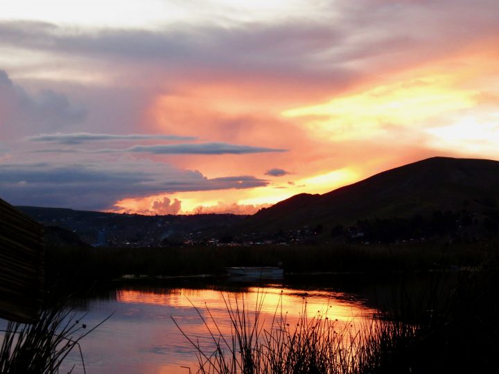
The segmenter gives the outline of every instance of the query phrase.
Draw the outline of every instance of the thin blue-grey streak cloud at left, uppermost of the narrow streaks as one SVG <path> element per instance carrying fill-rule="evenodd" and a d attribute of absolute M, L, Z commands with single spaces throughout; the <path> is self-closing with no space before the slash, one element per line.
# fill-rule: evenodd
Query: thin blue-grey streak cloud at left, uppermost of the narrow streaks
<path fill-rule="evenodd" d="M 90 141 L 135 141 L 135 140 L 172 140 L 189 141 L 195 140 L 193 136 L 177 136 L 164 134 L 92 134 L 89 132 L 74 132 L 71 134 L 40 134 L 28 137 L 30 141 L 40 141 L 58 144 L 80 144 Z"/>

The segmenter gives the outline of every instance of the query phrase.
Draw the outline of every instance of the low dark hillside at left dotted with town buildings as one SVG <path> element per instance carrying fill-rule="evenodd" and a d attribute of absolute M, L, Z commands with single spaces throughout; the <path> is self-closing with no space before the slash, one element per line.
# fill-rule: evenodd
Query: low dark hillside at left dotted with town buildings
<path fill-rule="evenodd" d="M 186 240 L 198 242 L 230 231 L 246 218 L 233 214 L 139 215 L 38 206 L 17 208 L 44 224 L 46 242 L 57 247 L 154 247 Z"/>

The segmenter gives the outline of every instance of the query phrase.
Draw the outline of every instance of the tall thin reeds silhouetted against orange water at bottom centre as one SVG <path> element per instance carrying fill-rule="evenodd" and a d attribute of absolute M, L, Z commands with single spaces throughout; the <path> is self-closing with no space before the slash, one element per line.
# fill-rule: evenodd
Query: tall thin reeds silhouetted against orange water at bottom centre
<path fill-rule="evenodd" d="M 264 295 L 254 308 L 244 299 L 222 296 L 231 325 L 228 336 L 222 334 L 209 308 L 205 318 L 193 305 L 215 346 L 211 352 L 189 337 L 172 317 L 195 348 L 198 373 L 385 373 L 394 366 L 395 353 L 413 346 L 421 334 L 417 325 L 387 321 L 380 315 L 365 316 L 357 326 L 331 318 L 327 308 L 310 317 L 306 298 L 297 318 L 290 318 L 277 305 L 272 320 L 264 321 Z M 397 365 L 400 369 L 401 363 Z M 409 372 L 410 362 L 403 365 Z"/>

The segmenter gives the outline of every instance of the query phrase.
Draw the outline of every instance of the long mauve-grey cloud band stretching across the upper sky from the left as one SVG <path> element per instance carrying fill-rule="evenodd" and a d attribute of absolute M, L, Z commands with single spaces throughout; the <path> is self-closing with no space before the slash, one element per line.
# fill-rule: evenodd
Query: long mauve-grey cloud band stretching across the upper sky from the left
<path fill-rule="evenodd" d="M 0 22 L 0 46 L 57 53 L 62 58 L 107 61 L 118 71 L 139 66 L 165 71 L 208 69 L 222 75 L 241 73 L 286 76 L 297 80 L 346 82 L 351 72 L 340 64 L 324 64 L 322 54 L 338 48 L 343 31 L 331 24 L 175 25 L 163 30 L 72 29 L 40 22 Z M 78 65 L 78 61 L 76 61 Z M 324 72 L 327 71 L 327 74 Z M 198 71 L 199 72 L 199 71 Z M 190 75 L 192 76 L 192 75 Z"/>

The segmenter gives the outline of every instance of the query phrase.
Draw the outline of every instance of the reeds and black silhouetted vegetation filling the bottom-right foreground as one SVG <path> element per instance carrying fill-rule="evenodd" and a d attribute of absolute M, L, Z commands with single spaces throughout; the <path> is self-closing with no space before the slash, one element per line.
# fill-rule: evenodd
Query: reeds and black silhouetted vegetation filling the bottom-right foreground
<path fill-rule="evenodd" d="M 184 336 L 200 373 L 487 373 L 499 348 L 498 269 L 493 258 L 450 292 L 437 284 L 416 297 L 401 292 L 389 313 L 353 327 L 327 312 L 309 318 L 306 301 L 297 319 L 281 310 L 269 324 L 261 320 L 263 299 L 250 306 L 227 296 L 231 335 L 198 310 L 213 350 Z"/>

